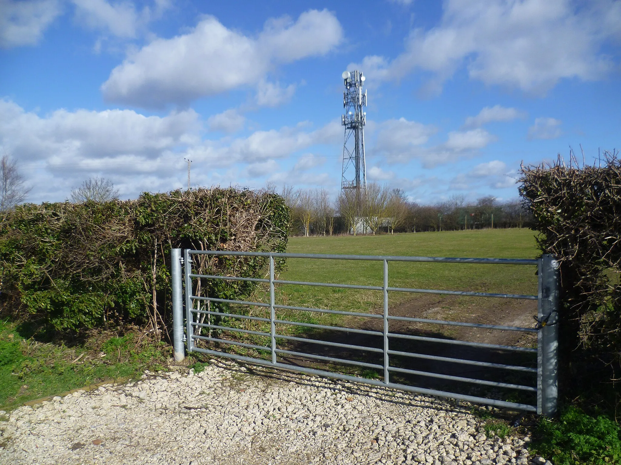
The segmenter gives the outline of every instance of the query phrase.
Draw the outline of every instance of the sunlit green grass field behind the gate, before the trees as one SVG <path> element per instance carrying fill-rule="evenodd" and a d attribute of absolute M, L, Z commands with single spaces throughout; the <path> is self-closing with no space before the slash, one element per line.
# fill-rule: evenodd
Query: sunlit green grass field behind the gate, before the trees
<path fill-rule="evenodd" d="M 419 255 L 533 259 L 530 229 L 417 232 L 381 236 L 292 237 L 288 252 L 305 254 Z M 381 286 L 383 263 L 352 260 L 288 259 L 281 279 Z M 389 286 L 536 294 L 535 267 L 458 263 L 389 263 Z M 381 308 L 381 291 L 279 285 L 278 299 L 291 306 L 348 311 Z M 389 293 L 391 305 L 412 294 Z"/>

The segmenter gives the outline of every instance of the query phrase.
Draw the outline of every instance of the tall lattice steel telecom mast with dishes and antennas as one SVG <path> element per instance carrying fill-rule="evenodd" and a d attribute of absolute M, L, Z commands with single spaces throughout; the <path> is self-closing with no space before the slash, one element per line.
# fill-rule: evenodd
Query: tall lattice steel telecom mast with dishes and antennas
<path fill-rule="evenodd" d="M 366 113 L 362 107 L 366 106 L 366 91 L 362 92 L 365 76 L 361 71 L 344 71 L 342 74 L 345 92 L 343 92 L 342 125 L 345 126 L 345 141 L 343 142 L 343 172 L 341 188 L 356 192 L 356 203 L 361 205 L 363 192 L 366 190 L 366 163 L 365 163 L 365 132 Z"/>

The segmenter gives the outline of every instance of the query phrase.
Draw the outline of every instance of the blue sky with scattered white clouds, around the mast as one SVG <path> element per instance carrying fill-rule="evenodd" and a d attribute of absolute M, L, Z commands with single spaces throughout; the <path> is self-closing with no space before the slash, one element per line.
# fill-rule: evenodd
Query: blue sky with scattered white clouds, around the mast
<path fill-rule="evenodd" d="M 520 164 L 620 148 L 621 1 L 0 0 L 0 153 L 29 201 L 341 184 L 343 71 L 368 181 L 518 197 Z"/>

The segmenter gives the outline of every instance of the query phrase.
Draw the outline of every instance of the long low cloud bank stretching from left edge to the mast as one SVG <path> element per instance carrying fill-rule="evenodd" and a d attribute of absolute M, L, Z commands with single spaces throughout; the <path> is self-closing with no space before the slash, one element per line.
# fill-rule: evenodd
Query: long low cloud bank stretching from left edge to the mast
<path fill-rule="evenodd" d="M 111 179 L 125 197 L 183 187 L 184 157 L 194 161 L 194 184 L 225 180 L 238 184 L 277 174 L 279 159 L 311 146 L 339 143 L 339 123 L 335 120 L 315 130 L 302 123 L 211 140 L 201 139 L 202 123 L 194 110 L 163 117 L 133 110 L 57 110 L 40 116 L 0 99 L 0 152 L 19 160 L 35 186 L 34 201 L 63 200 L 71 187 L 93 175 Z M 324 162 L 324 157 L 303 154 L 286 181 L 319 182 L 325 176 L 307 172 Z"/>

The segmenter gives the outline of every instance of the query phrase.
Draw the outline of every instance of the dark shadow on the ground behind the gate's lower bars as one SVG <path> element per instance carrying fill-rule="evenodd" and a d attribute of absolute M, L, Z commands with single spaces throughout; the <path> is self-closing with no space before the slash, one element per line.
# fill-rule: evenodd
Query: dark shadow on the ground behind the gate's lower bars
<path fill-rule="evenodd" d="M 391 330 L 391 332 L 393 331 Z M 497 348 L 480 348 L 445 343 L 441 340 L 455 339 L 446 336 L 442 332 L 417 329 L 407 329 L 401 331 L 395 330 L 394 332 L 396 332 L 396 334 L 407 334 L 440 339 L 438 342 L 432 342 L 426 340 L 411 340 L 390 337 L 389 349 L 397 352 L 413 353 L 422 356 L 455 358 L 465 361 L 497 363 L 501 365 L 524 366 L 528 368 L 537 367 L 536 353 L 514 352 L 512 350 L 501 350 Z M 277 333 L 282 334 L 279 329 L 277 329 Z M 222 339 L 233 339 L 235 336 L 237 335 L 233 335 L 232 333 L 222 333 L 219 337 L 222 337 Z M 384 363 L 384 355 L 383 352 L 378 352 L 378 350 L 383 350 L 383 335 L 360 334 L 341 330 L 317 330 L 304 328 L 302 331 L 297 332 L 296 337 L 309 339 L 309 342 L 277 338 L 277 347 L 291 352 L 371 363 L 378 365 L 378 367 L 371 368 L 349 365 L 345 363 L 338 363 L 336 361 L 317 360 L 311 357 L 289 354 L 278 354 L 278 361 L 288 363 L 293 366 L 304 366 L 307 368 L 315 368 L 317 370 L 349 374 L 360 378 L 378 379 L 379 381 L 383 381 L 384 379 L 384 370 L 381 368 Z M 335 347 L 333 345 L 314 343 L 310 340 L 319 340 L 329 343 L 344 343 L 375 350 Z M 215 350 L 228 350 L 226 347 L 222 346 L 225 346 L 225 344 L 220 344 L 219 346 L 215 345 L 213 348 L 215 348 Z M 468 396 L 487 397 L 502 401 L 519 402 L 529 405 L 535 405 L 537 402 L 536 393 L 532 391 L 525 391 L 512 387 L 489 386 L 485 384 L 472 383 L 466 380 L 442 378 L 443 375 L 447 375 L 460 378 L 535 387 L 537 385 L 536 373 L 509 370 L 507 368 L 470 365 L 467 363 L 459 363 L 458 361 L 437 359 L 430 360 L 428 358 L 394 354 L 389 355 L 389 366 L 391 366 L 391 368 L 402 368 L 406 370 L 429 373 L 429 375 L 424 375 L 390 371 L 389 379 L 391 383 L 406 384 L 407 386 L 435 389 L 437 391 L 453 392 Z"/>

